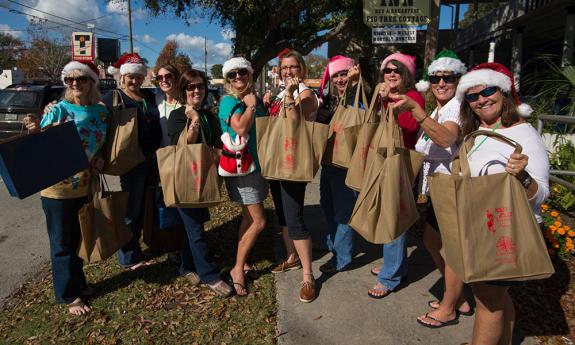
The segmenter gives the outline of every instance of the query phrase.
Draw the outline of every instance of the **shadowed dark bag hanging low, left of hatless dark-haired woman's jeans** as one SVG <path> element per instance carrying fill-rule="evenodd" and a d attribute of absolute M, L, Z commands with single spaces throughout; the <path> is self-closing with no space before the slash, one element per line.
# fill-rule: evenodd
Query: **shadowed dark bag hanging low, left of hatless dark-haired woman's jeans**
<path fill-rule="evenodd" d="M 167 229 L 160 229 L 160 224 L 156 218 L 155 196 L 156 187 L 148 187 L 144 200 L 144 227 L 142 230 L 144 243 L 150 251 L 156 254 L 178 251 L 186 239 L 184 225 L 178 224 Z"/>

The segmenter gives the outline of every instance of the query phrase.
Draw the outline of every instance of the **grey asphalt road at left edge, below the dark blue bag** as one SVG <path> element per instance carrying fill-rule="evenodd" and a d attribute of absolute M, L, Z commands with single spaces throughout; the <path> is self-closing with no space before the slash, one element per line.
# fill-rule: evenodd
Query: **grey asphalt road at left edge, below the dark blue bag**
<path fill-rule="evenodd" d="M 0 307 L 6 297 L 49 262 L 40 195 L 11 197 L 0 179 Z"/>

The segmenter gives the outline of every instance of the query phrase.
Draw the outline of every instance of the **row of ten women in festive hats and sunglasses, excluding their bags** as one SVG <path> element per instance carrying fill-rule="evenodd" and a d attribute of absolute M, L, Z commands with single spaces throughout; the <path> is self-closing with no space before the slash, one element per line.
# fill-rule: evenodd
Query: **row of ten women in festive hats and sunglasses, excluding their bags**
<path fill-rule="evenodd" d="M 548 159 L 537 132 L 525 122 L 530 109 L 520 104 L 513 85 L 513 75 L 502 65 L 486 63 L 467 72 L 464 63 L 451 51 L 440 52 L 415 84 L 415 57 L 402 53 L 387 56 L 379 69 L 380 85 L 375 99 L 384 107 L 393 105 L 405 146 L 425 154 L 425 162 L 416 188 L 417 202 L 424 212 L 423 242 L 444 277 L 444 294 L 440 301 L 430 301 L 429 311 L 417 318 L 422 326 L 439 328 L 458 323 L 460 315 L 474 310 L 463 296 L 463 283 L 440 255 L 442 246 L 433 203 L 429 197 L 428 176 L 450 173 L 450 161 L 462 138 L 477 129 L 503 134 L 520 143 L 524 150 L 498 145 L 489 138 L 477 140 L 469 156 L 472 176 L 506 171 L 520 179 L 539 222 L 539 205 L 548 195 Z M 202 107 L 206 99 L 207 79 L 197 70 L 182 74 L 170 64 L 159 66 L 156 80 L 161 90 L 155 99 L 141 92 L 146 74 L 136 54 L 116 65 L 121 73 L 119 91 L 124 107 L 138 111 L 138 139 L 145 162 L 121 177 L 122 189 L 130 192 L 126 222 L 133 240 L 118 255 L 120 265 L 137 269 L 146 265 L 139 247 L 142 227 L 143 198 L 146 186 L 157 185 L 158 174 L 154 152 L 162 145 L 176 144 L 181 136 L 187 143 L 204 142 L 221 147 L 222 133 L 242 137 L 248 143 L 255 169 L 241 176 L 225 178 L 230 199 L 241 207 L 236 263 L 228 282 L 209 254 L 203 235 L 207 209 L 178 209 L 185 226 L 186 241 L 180 251 L 180 273 L 192 284 L 207 284 L 220 296 L 234 291 L 248 294 L 246 278 L 256 272 L 248 256 L 258 234 L 266 227 L 263 201 L 271 190 L 276 216 L 286 247 L 285 260 L 272 268 L 273 273 L 302 268 L 299 298 L 311 302 L 316 296 L 312 271 L 310 230 L 303 218 L 306 183 L 267 181 L 262 177 L 257 156 L 255 119 L 285 114 L 291 119 L 329 123 L 338 104 L 351 106 L 359 85 L 360 71 L 350 58 L 332 58 L 322 84 L 327 92 L 318 98 L 304 83 L 307 70 L 297 51 L 285 50 L 279 55 L 283 91 L 263 99 L 254 91 L 253 69 L 249 61 L 234 57 L 223 65 L 226 96 L 221 99 L 216 115 Z M 112 108 L 112 94 L 103 100 L 97 91 L 97 70 L 90 63 L 71 62 L 62 72 L 66 85 L 65 100 L 42 117 L 41 122 L 27 119 L 30 131 L 66 120 L 75 121 L 85 141 L 85 149 L 94 167 L 103 162 L 98 151 L 105 138 L 105 122 Z M 369 87 L 368 87 L 369 88 Z M 435 108 L 425 110 L 426 97 Z M 106 106 L 102 105 L 103 101 Z M 367 104 L 360 107 L 367 108 Z M 349 268 L 353 261 L 354 231 L 347 225 L 357 193 L 345 185 L 346 170 L 325 165 L 321 172 L 321 206 L 326 217 L 326 244 L 333 257 L 320 270 L 336 274 Z M 52 272 L 56 302 L 67 303 L 70 313 L 84 314 L 89 306 L 84 300 L 88 286 L 82 261 L 76 255 L 79 243 L 78 209 L 86 202 L 89 171 L 82 172 L 42 192 L 50 237 Z M 383 265 L 373 268 L 377 277 L 368 294 L 383 298 L 404 283 L 408 275 L 406 235 L 383 245 Z M 510 344 L 514 309 L 508 294 L 513 282 L 494 281 L 472 284 L 476 319 L 473 344 Z"/>

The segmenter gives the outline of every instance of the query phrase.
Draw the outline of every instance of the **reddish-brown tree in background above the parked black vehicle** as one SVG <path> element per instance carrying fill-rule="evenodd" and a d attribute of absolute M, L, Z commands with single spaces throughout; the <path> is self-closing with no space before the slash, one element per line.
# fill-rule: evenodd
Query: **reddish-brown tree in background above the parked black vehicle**
<path fill-rule="evenodd" d="M 64 66 L 70 61 L 70 46 L 48 38 L 34 38 L 18 56 L 17 66 L 26 78 L 61 82 Z"/>

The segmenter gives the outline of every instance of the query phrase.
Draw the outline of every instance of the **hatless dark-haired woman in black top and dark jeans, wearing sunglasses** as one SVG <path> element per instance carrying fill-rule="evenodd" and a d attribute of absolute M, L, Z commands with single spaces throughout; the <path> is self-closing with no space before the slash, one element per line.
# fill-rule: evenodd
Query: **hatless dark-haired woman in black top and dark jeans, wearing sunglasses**
<path fill-rule="evenodd" d="M 178 84 L 178 98 L 184 101 L 185 105 L 170 114 L 170 144 L 176 145 L 182 131 L 186 131 L 188 144 L 204 142 L 209 146 L 221 147 L 218 119 L 203 109 L 208 90 L 206 76 L 191 69 L 182 74 Z M 192 285 L 203 282 L 218 296 L 229 296 L 233 290 L 221 279 L 204 237 L 204 222 L 209 219 L 208 209 L 178 208 L 178 212 L 186 229 L 185 241 L 180 250 L 180 274 Z"/>

